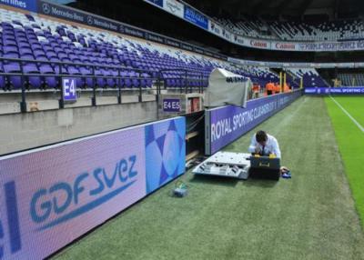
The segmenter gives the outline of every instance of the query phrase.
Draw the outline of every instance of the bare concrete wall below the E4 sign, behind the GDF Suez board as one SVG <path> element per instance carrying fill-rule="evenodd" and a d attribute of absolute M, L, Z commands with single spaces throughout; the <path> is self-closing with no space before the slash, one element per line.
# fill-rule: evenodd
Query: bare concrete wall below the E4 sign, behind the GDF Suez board
<path fill-rule="evenodd" d="M 0 155 L 157 120 L 157 102 L 0 115 Z"/>

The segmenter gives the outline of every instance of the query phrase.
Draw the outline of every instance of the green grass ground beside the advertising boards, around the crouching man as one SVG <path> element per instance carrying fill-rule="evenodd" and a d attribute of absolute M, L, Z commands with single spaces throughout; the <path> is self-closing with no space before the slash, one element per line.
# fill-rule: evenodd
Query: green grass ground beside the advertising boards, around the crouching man
<path fill-rule="evenodd" d="M 356 211 L 363 178 L 354 160 L 363 161 L 363 139 L 340 113 L 328 99 L 304 96 L 225 148 L 246 152 L 251 135 L 265 129 L 278 138 L 292 179 L 235 181 L 187 172 L 179 178 L 188 186 L 185 198 L 170 195 L 176 181 L 165 185 L 54 258 L 364 259 Z M 347 140 L 346 133 L 356 137 Z"/>

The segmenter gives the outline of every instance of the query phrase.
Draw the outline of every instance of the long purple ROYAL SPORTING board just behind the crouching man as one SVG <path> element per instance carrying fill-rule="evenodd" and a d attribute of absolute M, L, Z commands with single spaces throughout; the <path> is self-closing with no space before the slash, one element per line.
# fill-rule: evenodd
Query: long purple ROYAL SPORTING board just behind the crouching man
<path fill-rule="evenodd" d="M 206 154 L 213 155 L 224 146 L 265 121 L 296 100 L 302 92 L 270 95 L 249 100 L 246 108 L 226 105 L 205 110 Z M 248 149 L 248 147 L 247 147 Z"/>

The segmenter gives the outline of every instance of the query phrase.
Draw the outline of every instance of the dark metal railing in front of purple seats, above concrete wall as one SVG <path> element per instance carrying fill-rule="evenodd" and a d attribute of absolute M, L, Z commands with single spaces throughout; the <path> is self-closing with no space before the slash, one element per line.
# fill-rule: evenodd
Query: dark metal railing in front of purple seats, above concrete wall
<path fill-rule="evenodd" d="M 142 101 L 142 94 L 143 91 L 145 90 L 156 90 L 157 92 L 157 101 L 159 98 L 159 95 L 161 94 L 161 87 L 162 87 L 162 82 L 165 81 L 166 79 L 164 78 L 163 72 L 170 72 L 170 71 L 178 71 L 178 72 L 182 72 L 183 73 L 183 77 L 181 79 L 184 80 L 185 82 L 185 93 L 187 93 L 187 89 L 189 87 L 189 91 L 192 92 L 192 90 L 196 87 L 193 87 L 191 85 L 187 85 L 188 80 L 196 80 L 196 78 L 190 78 L 188 76 L 189 73 L 198 73 L 200 76 L 200 83 L 201 85 L 197 86 L 197 90 L 199 93 L 203 92 L 203 73 L 202 70 L 200 72 L 197 71 L 193 71 L 190 70 L 189 68 L 185 68 L 185 67 L 172 67 L 170 69 L 162 69 L 162 70 L 146 70 L 146 69 L 139 69 L 139 68 L 133 68 L 130 66 L 124 66 L 124 65 L 95 65 L 95 64 L 82 64 L 82 63 L 70 63 L 70 62 L 58 62 L 58 61 L 45 61 L 45 60 L 29 60 L 29 59 L 18 59 L 18 58 L 6 58 L 6 57 L 0 57 L 0 62 L 3 63 L 3 65 L 6 64 L 11 64 L 11 63 L 17 63 L 19 65 L 20 71 L 18 72 L 13 72 L 13 73 L 5 73 L 5 72 L 0 72 L 0 76 L 4 76 L 5 77 L 5 89 L 6 88 L 10 88 L 9 86 L 12 85 L 12 81 L 11 81 L 11 76 L 20 76 L 20 80 L 21 80 L 21 102 L 20 102 L 20 110 L 22 113 L 26 112 L 26 94 L 27 94 L 27 90 L 30 89 L 31 84 L 29 82 L 29 77 L 32 76 L 39 76 L 41 78 L 42 81 L 42 85 L 46 85 L 46 78 L 47 77 L 54 77 L 56 78 L 56 88 L 54 88 L 55 92 L 59 92 L 60 96 L 59 96 L 59 108 L 65 108 L 65 102 L 64 102 L 64 94 L 62 91 L 62 78 L 63 77 L 68 77 L 68 78 L 79 78 L 81 80 L 83 80 L 84 85 L 81 86 L 81 89 L 86 89 L 86 90 L 90 90 L 92 89 L 92 105 L 96 106 L 96 90 L 99 89 L 106 89 L 107 87 L 105 86 L 98 86 L 97 85 L 97 78 L 102 78 L 104 80 L 108 79 L 108 78 L 112 78 L 116 80 L 116 85 L 111 86 L 111 89 L 114 89 L 117 91 L 117 103 L 121 104 L 121 92 L 122 90 L 126 89 L 126 90 L 138 90 L 138 101 L 141 102 Z M 40 72 L 40 70 L 38 69 L 39 73 L 25 73 L 24 71 L 24 65 L 25 64 L 35 64 L 35 65 L 51 65 L 54 73 L 52 74 L 42 74 Z M 70 74 L 68 72 L 64 72 L 64 66 L 73 66 L 76 67 L 77 69 L 80 67 L 84 67 L 86 68 L 88 71 L 90 71 L 91 73 L 89 74 Z M 58 68 L 58 71 L 56 72 L 56 67 Z M 112 69 L 115 72 L 117 72 L 117 75 L 96 75 L 96 71 L 98 69 Z M 122 73 L 124 72 L 131 72 L 134 71 L 138 74 L 138 76 L 126 76 L 123 75 Z M 149 76 L 145 77 L 142 76 L 142 74 L 147 74 Z M 89 86 L 87 85 L 86 79 L 92 79 L 92 85 Z M 125 83 L 122 84 L 123 80 L 139 80 L 138 82 L 138 86 L 137 87 L 132 87 L 132 88 L 126 88 L 125 87 Z M 142 86 L 140 80 L 146 80 L 147 82 L 151 83 L 151 87 L 147 87 L 147 85 L 145 87 Z M 86 87 L 87 85 L 87 87 Z M 153 88 L 153 85 L 156 85 L 156 88 Z M 7 86 L 7 87 L 6 87 Z M 110 86 L 109 86 L 110 88 Z M 165 85 L 165 89 L 168 89 L 168 87 L 166 87 Z M 77 86 L 77 90 L 79 90 L 78 86 Z M 39 92 L 42 92 L 41 90 Z M 180 87 L 180 92 L 182 93 L 182 88 Z"/>

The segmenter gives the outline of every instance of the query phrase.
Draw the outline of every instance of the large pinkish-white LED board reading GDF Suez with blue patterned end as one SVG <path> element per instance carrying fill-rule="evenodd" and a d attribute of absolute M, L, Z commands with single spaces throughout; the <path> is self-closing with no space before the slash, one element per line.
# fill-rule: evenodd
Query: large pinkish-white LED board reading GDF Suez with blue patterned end
<path fill-rule="evenodd" d="M 43 259 L 183 174 L 185 120 L 0 157 L 0 258 Z"/>

